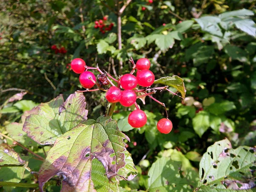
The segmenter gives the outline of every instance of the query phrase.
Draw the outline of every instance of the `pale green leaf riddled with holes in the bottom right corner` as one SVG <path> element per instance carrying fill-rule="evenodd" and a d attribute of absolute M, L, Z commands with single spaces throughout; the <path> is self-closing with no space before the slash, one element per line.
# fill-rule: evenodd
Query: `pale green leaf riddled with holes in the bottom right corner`
<path fill-rule="evenodd" d="M 239 146 L 233 149 L 229 140 L 221 140 L 207 148 L 199 166 L 200 185 L 204 191 L 250 189 L 256 186 L 253 175 L 256 148 Z"/>

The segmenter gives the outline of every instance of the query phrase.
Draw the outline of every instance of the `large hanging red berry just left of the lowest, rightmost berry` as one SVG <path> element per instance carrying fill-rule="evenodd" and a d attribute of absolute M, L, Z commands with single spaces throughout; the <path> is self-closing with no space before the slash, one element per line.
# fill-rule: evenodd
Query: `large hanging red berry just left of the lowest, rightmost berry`
<path fill-rule="evenodd" d="M 136 109 L 128 116 L 128 123 L 133 128 L 141 128 L 147 123 L 146 113 L 140 109 Z"/>

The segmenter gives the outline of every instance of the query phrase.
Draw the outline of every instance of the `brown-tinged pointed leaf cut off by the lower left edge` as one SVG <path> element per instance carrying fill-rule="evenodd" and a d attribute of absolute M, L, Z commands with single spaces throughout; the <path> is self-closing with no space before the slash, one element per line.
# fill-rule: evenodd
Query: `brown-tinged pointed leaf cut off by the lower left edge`
<path fill-rule="evenodd" d="M 25 163 L 9 145 L 5 143 L 0 144 L 0 167 L 23 166 Z"/>

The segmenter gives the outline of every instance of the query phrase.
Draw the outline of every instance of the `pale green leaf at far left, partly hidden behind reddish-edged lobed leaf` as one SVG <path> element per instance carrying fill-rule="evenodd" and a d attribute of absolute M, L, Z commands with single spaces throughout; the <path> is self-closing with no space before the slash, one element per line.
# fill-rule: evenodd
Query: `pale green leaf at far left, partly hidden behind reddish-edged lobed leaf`
<path fill-rule="evenodd" d="M 34 140 L 29 138 L 26 134 L 26 132 L 22 131 L 23 124 L 13 122 L 9 125 L 6 125 L 6 132 L 8 133 L 8 136 L 14 139 L 15 141 L 25 145 L 25 146 L 38 146 L 38 143 L 36 143 Z"/>

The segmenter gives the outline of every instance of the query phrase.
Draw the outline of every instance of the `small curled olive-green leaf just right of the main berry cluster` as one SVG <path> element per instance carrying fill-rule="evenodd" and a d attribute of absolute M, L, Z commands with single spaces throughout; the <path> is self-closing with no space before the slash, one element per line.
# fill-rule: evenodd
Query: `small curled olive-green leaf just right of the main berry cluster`
<path fill-rule="evenodd" d="M 185 98 L 185 95 L 186 95 L 185 85 L 184 85 L 183 79 L 181 79 L 179 76 L 162 77 L 154 81 L 154 84 L 157 84 L 157 83 L 174 87 L 181 93 L 181 96 Z"/>

